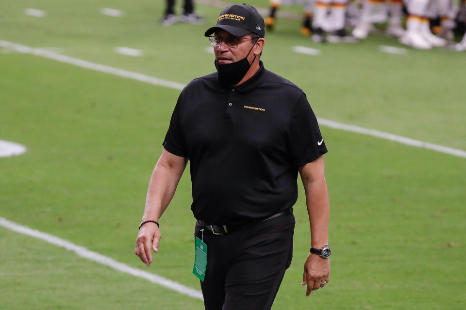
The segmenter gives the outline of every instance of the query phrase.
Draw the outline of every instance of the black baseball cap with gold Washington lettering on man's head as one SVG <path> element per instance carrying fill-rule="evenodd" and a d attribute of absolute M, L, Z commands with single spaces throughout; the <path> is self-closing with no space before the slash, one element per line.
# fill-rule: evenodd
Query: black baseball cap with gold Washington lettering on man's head
<path fill-rule="evenodd" d="M 216 26 L 209 28 L 204 35 L 207 37 L 219 29 L 238 37 L 250 32 L 260 37 L 266 35 L 264 18 L 255 7 L 246 3 L 233 4 L 225 8 L 218 16 Z"/>

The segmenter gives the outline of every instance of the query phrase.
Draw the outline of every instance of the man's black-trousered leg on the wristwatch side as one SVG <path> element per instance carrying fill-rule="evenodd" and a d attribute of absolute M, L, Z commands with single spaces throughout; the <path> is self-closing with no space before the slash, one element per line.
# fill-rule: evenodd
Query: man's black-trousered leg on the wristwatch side
<path fill-rule="evenodd" d="M 295 220 L 276 217 L 245 232 L 225 279 L 222 310 L 270 310 L 291 263 Z"/>

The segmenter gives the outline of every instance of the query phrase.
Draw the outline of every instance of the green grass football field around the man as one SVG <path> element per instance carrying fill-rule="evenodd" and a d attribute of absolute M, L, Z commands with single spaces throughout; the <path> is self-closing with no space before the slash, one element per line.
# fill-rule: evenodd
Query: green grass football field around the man
<path fill-rule="evenodd" d="M 0 40 L 184 84 L 213 72 L 206 25 L 159 26 L 162 2 L 2 1 Z M 31 7 L 47 15 L 26 16 Z M 102 7 L 125 16 L 101 15 Z M 209 25 L 220 12 L 198 9 Z M 465 53 L 385 54 L 379 46 L 401 46 L 375 35 L 353 45 L 318 46 L 299 28 L 300 21 L 280 19 L 266 34 L 262 59 L 304 90 L 318 117 L 466 150 Z M 294 53 L 293 46 L 318 48 L 321 56 Z M 144 54 L 120 55 L 115 47 Z M 154 263 L 147 268 L 133 254 L 178 94 L 0 47 L 0 140 L 28 148 L 0 158 L 0 217 L 200 289 L 191 274 L 188 170 L 161 219 Z M 325 126 L 321 131 L 330 151 L 331 282 L 310 297 L 300 286 L 310 245 L 300 188 L 294 259 L 273 309 L 465 309 L 466 158 Z M 0 227 L 1 310 L 143 307 L 200 310 L 203 304 Z"/>

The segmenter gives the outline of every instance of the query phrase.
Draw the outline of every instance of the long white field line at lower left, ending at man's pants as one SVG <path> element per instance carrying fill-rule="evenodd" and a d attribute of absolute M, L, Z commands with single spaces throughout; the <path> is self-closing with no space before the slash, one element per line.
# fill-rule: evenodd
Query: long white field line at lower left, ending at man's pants
<path fill-rule="evenodd" d="M 102 265 L 106 265 L 109 267 L 112 267 L 113 269 L 116 269 L 118 271 L 133 275 L 135 277 L 147 279 L 152 283 L 156 283 L 162 286 L 165 286 L 166 288 L 176 291 L 178 293 L 184 294 L 191 296 L 193 298 L 197 298 L 200 300 L 203 300 L 202 298 L 202 293 L 198 290 L 192 289 L 190 287 L 184 286 L 183 284 L 180 284 L 178 282 L 165 279 L 163 277 L 157 276 L 155 274 L 152 274 L 150 272 L 143 271 L 138 268 L 134 268 L 131 266 L 128 266 L 127 264 L 120 263 L 115 261 L 114 259 L 99 254 L 97 252 L 91 251 L 87 248 L 77 246 L 67 240 L 61 239 L 57 236 L 48 234 L 48 233 L 42 233 L 38 230 L 19 225 L 15 222 L 9 221 L 6 218 L 0 217 L 0 226 L 3 226 L 11 231 L 17 232 L 17 233 L 22 233 L 27 236 L 31 236 L 37 239 L 41 239 L 44 241 L 47 241 L 48 243 L 51 243 L 53 245 L 66 248 L 69 251 L 75 252 L 81 257 L 84 257 L 88 260 L 94 261 L 96 263 L 100 263 Z"/>

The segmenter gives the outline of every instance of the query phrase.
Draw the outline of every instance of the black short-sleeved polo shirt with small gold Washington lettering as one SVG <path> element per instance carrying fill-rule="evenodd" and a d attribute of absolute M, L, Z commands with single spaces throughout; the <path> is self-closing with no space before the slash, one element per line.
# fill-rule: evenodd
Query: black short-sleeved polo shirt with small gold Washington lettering
<path fill-rule="evenodd" d="M 194 217 L 222 225 L 291 208 L 299 167 L 327 153 L 306 95 L 262 62 L 237 87 L 217 73 L 186 85 L 163 145 L 191 162 Z"/>

